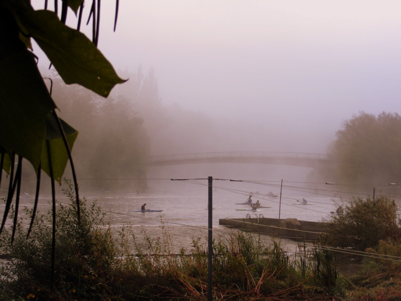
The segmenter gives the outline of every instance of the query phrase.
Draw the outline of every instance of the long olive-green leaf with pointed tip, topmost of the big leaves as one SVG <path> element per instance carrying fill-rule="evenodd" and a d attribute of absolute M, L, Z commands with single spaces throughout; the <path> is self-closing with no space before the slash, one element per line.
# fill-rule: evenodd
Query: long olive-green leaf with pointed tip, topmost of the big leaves
<path fill-rule="evenodd" d="M 77 83 L 107 97 L 116 84 L 125 81 L 84 34 L 64 25 L 55 13 L 25 11 L 19 20 L 65 83 Z"/>

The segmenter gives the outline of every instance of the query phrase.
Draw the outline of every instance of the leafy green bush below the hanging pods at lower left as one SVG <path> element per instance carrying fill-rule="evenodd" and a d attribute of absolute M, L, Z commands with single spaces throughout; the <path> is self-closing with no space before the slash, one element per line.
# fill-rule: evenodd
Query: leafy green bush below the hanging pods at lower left
<path fill-rule="evenodd" d="M 81 203 L 81 220 L 71 186 L 65 191 L 71 205 L 57 202 L 55 273 L 52 266 L 52 211 L 35 219 L 27 238 L 27 220 L 20 219 L 14 243 L 12 229 L 0 237 L 0 252 L 11 260 L 0 267 L 3 275 L 0 290 L 9 299 L 16 297 L 50 300 L 54 295 L 66 300 L 96 299 L 109 293 L 108 282 L 115 261 L 115 250 L 109 229 L 96 203 Z M 25 208 L 26 217 L 30 210 Z M 13 212 L 12 212 L 13 215 Z M 35 295 L 35 298 L 33 297 Z"/>

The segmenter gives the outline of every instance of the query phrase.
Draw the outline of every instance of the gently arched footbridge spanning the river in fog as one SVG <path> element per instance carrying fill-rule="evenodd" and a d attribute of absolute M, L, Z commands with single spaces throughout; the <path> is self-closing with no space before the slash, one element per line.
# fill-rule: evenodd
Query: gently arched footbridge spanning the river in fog
<path fill-rule="evenodd" d="M 276 164 L 310 168 L 330 168 L 333 165 L 327 154 L 288 152 L 216 152 L 163 155 L 149 157 L 143 165 L 158 167 L 206 163 Z"/>

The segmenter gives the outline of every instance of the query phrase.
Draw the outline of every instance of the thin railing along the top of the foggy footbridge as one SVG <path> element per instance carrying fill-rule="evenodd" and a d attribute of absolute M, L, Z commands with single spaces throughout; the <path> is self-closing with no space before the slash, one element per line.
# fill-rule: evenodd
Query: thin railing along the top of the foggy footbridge
<path fill-rule="evenodd" d="M 209 158 L 308 158 L 308 159 L 329 159 L 327 154 L 313 153 L 291 153 L 291 152 L 213 152 L 213 153 L 191 153 L 175 154 L 149 157 L 147 162 L 209 159 Z"/>

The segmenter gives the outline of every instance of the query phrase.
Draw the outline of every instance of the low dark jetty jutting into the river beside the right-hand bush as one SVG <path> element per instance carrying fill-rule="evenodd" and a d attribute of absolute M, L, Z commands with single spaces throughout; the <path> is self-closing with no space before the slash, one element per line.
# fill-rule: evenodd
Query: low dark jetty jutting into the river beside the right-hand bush
<path fill-rule="evenodd" d="M 295 218 L 225 218 L 219 225 L 293 240 L 313 241 L 322 233 L 322 223 Z"/>

